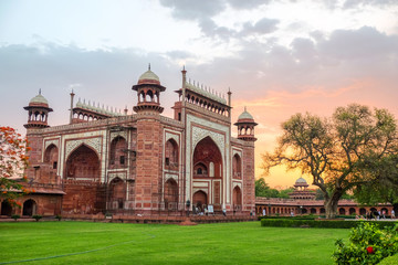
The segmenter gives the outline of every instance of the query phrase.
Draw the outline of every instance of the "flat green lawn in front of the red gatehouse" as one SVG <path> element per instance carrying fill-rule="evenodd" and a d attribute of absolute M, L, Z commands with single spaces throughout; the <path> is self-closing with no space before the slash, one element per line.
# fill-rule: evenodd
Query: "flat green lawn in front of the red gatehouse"
<path fill-rule="evenodd" d="M 349 230 L 261 227 L 260 222 L 118 224 L 0 223 L 0 264 L 333 264 Z M 73 254 L 73 255 L 70 255 Z"/>

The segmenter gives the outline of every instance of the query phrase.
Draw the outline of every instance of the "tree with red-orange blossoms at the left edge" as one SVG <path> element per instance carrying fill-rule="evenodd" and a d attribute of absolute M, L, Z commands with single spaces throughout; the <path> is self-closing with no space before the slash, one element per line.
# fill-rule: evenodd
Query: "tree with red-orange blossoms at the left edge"
<path fill-rule="evenodd" d="M 11 204 L 20 205 L 15 198 L 29 191 L 21 184 L 28 167 L 30 150 L 27 139 L 17 134 L 13 128 L 0 127 L 0 199 L 6 199 Z"/>

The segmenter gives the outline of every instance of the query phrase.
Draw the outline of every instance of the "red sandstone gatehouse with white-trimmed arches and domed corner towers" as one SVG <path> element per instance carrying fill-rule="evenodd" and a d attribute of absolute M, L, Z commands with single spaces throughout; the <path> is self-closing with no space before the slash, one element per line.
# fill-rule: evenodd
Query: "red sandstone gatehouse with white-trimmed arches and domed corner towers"
<path fill-rule="evenodd" d="M 21 199 L 30 200 L 29 213 L 182 214 L 188 201 L 190 209 L 254 212 L 253 117 L 244 109 L 232 137 L 231 93 L 221 97 L 181 73 L 174 118 L 161 115 L 166 87 L 150 68 L 132 87 L 132 115 L 74 104 L 72 92 L 70 124 L 50 127 L 48 100 L 32 98 L 25 128 L 35 192 Z"/>

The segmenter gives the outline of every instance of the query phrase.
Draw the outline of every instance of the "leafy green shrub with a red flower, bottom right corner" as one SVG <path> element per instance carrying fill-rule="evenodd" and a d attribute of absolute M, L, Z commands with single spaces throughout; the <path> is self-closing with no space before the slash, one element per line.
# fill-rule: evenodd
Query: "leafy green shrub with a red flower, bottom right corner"
<path fill-rule="evenodd" d="M 333 253 L 336 264 L 377 264 L 387 256 L 398 252 L 397 227 L 360 222 L 352 229 L 349 243 L 336 241 L 337 250 Z"/>

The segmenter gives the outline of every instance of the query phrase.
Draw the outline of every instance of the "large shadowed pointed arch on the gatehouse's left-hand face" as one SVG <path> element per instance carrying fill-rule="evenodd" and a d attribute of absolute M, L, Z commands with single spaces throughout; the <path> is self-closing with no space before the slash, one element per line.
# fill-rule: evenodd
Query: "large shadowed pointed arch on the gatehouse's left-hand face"
<path fill-rule="evenodd" d="M 82 145 L 66 160 L 66 178 L 100 182 L 100 158 L 90 147 Z"/>

